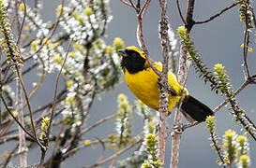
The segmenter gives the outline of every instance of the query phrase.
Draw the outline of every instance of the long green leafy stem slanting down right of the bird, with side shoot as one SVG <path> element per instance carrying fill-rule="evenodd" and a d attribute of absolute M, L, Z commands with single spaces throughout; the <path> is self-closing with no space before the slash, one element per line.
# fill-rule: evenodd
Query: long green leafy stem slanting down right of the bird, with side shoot
<path fill-rule="evenodd" d="M 188 50 L 189 58 L 192 61 L 196 72 L 199 77 L 203 77 L 204 82 L 209 81 L 211 83 L 211 89 L 220 92 L 226 101 L 231 105 L 233 110 L 231 114 L 235 120 L 238 120 L 242 126 L 248 131 L 248 133 L 255 138 L 256 130 L 253 124 L 247 117 L 245 117 L 244 110 L 241 109 L 234 98 L 233 86 L 230 83 L 229 76 L 224 70 L 224 66 L 217 63 L 214 67 L 214 72 L 209 71 L 206 65 L 203 64 L 202 59 L 199 56 L 198 51 L 194 47 L 194 43 L 190 40 L 187 30 L 184 26 L 178 28 L 178 35 L 181 37 L 181 42 L 186 46 Z"/>

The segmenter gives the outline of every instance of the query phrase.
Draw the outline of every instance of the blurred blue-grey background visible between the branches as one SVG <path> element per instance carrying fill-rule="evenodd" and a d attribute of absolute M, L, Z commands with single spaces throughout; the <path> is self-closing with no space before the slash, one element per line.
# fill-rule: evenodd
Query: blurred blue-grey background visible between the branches
<path fill-rule="evenodd" d="M 31 0 L 28 4 L 33 3 Z M 44 20 L 53 20 L 55 15 L 55 8 L 59 5 L 60 1 L 45 1 L 44 12 L 42 13 Z M 182 1 L 181 8 L 185 15 L 186 1 Z M 218 13 L 223 7 L 231 5 L 233 1 L 223 0 L 197 0 L 194 9 L 194 20 L 203 21 L 210 16 Z M 105 36 L 107 44 L 112 44 L 114 37 L 121 37 L 126 46 L 138 46 L 136 39 L 136 13 L 131 7 L 126 7 L 118 0 L 110 0 L 113 21 L 110 22 Z M 255 3 L 253 4 L 256 7 Z M 168 1 L 168 15 L 169 23 L 171 24 L 174 32 L 178 26 L 183 25 L 174 0 Z M 161 61 L 161 48 L 158 38 L 158 21 L 159 21 L 159 6 L 158 1 L 151 1 L 148 10 L 146 11 L 143 20 L 143 36 L 146 43 L 146 47 L 149 50 L 149 55 L 156 61 Z M 223 63 L 228 75 L 231 77 L 233 88 L 237 89 L 243 82 L 244 76 L 242 72 L 243 61 L 243 49 L 240 47 L 243 43 L 243 23 L 239 21 L 238 7 L 228 10 L 223 15 L 205 24 L 195 25 L 191 31 L 191 38 L 195 42 L 196 49 L 201 53 L 203 63 L 209 68 L 212 68 L 216 63 Z M 251 41 L 252 42 L 252 41 Z M 255 43 L 252 42 L 254 47 Z M 248 66 L 250 67 L 251 74 L 256 73 L 256 57 L 255 51 L 248 53 Z M 29 74 L 26 77 L 35 77 L 34 74 Z M 34 99 L 33 105 L 40 105 L 40 102 L 53 98 L 53 77 L 47 78 L 47 82 L 43 84 L 43 87 Z M 24 79 L 25 80 L 25 79 Z M 125 93 L 128 95 L 128 101 L 133 103 L 136 98 L 128 91 L 125 79 L 123 77 L 122 83 L 118 85 L 113 91 L 105 92 L 98 96 L 97 101 L 92 106 L 90 117 L 87 120 L 87 125 L 95 123 L 98 119 L 103 119 L 113 113 L 116 113 L 117 103 L 116 98 L 119 93 Z M 45 91 L 47 88 L 47 91 Z M 218 106 L 222 101 L 222 97 L 217 95 L 214 91 L 210 91 L 208 84 L 204 84 L 203 80 L 198 77 L 194 69 L 191 68 L 188 74 L 187 88 L 191 95 L 201 100 L 205 105 L 208 105 L 212 109 Z M 248 86 L 244 91 L 237 96 L 239 105 L 245 109 L 248 116 L 256 121 L 256 97 L 255 86 Z M 133 117 L 134 134 L 140 133 L 143 128 L 143 122 L 141 118 L 136 118 L 136 114 Z M 228 129 L 233 129 L 237 134 L 241 134 L 241 127 L 233 120 L 227 107 L 221 108 L 216 114 L 218 135 L 221 137 Z M 173 114 L 170 116 L 169 128 L 173 125 Z M 184 123 L 186 120 L 184 120 Z M 89 132 L 84 135 L 84 139 L 103 138 L 109 133 L 113 133 L 114 119 L 99 126 L 93 132 Z M 189 128 L 182 135 L 180 144 L 180 157 L 179 167 L 207 167 L 216 168 L 216 160 L 218 158 L 215 150 L 210 147 L 211 142 L 208 140 L 210 134 L 207 133 L 205 124 L 201 123 L 198 126 Z M 250 147 L 250 159 L 251 167 L 256 164 L 256 143 L 249 138 Z M 166 162 L 165 167 L 169 167 L 171 157 L 171 137 L 168 138 L 166 147 Z M 7 148 L 1 149 L 1 151 L 8 150 Z M 35 149 L 35 151 L 38 151 Z M 119 160 L 126 159 L 133 150 L 130 150 L 127 154 L 121 155 Z M 74 157 L 68 158 L 64 168 L 68 167 L 83 167 L 84 165 L 90 165 L 97 161 L 98 155 L 101 150 L 99 147 L 89 147 L 82 149 Z M 107 151 L 106 155 L 111 154 Z M 29 155 L 29 162 L 33 164 L 38 161 L 39 154 L 34 153 Z M 19 160 L 17 160 L 17 163 Z M 102 167 L 108 167 L 109 163 L 104 164 Z M 253 166 L 254 165 L 254 166 Z"/>

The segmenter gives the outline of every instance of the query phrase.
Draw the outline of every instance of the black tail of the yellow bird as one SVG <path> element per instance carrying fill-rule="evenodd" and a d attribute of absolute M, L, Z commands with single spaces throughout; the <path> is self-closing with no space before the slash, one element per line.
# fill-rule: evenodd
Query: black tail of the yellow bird
<path fill-rule="evenodd" d="M 208 106 L 203 105 L 190 95 L 184 99 L 181 109 L 183 109 L 192 119 L 199 122 L 204 121 L 207 116 L 212 116 L 214 114 Z"/>

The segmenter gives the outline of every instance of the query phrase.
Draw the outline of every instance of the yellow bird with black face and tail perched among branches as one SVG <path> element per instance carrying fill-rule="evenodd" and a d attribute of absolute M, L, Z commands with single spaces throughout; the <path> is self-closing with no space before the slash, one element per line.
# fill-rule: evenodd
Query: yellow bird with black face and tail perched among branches
<path fill-rule="evenodd" d="M 124 50 L 118 50 L 122 56 L 121 67 L 123 68 L 128 88 L 139 98 L 143 104 L 158 110 L 159 108 L 159 91 L 158 75 L 146 61 L 143 51 L 134 46 Z M 153 62 L 154 63 L 154 62 Z M 161 63 L 154 63 L 154 66 L 161 71 Z M 188 90 L 178 83 L 175 75 L 168 72 L 168 84 L 171 91 L 169 93 L 169 107 L 171 111 L 178 105 L 182 95 L 181 109 L 188 121 L 204 121 L 207 116 L 213 115 L 213 111 L 206 105 L 188 95 Z M 182 94 L 183 90 L 183 94 Z"/>

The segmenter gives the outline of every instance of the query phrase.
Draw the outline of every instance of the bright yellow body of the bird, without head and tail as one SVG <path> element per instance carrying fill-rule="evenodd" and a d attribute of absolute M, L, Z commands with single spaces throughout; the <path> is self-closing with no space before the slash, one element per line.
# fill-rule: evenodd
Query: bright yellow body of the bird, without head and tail
<path fill-rule="evenodd" d="M 160 65 L 157 64 L 156 67 L 159 71 L 161 71 Z M 133 94 L 143 102 L 143 104 L 158 110 L 158 75 L 156 75 L 156 73 L 151 68 L 147 68 L 136 74 L 128 74 L 128 71 L 125 70 L 125 77 L 129 90 L 132 91 Z M 170 87 L 177 93 L 177 96 L 173 96 L 171 93 L 169 93 L 168 111 L 171 111 L 180 100 L 182 86 L 177 82 L 176 77 L 171 72 L 168 73 L 168 83 Z M 185 97 L 187 94 L 188 91 L 185 89 L 183 97 Z"/>

